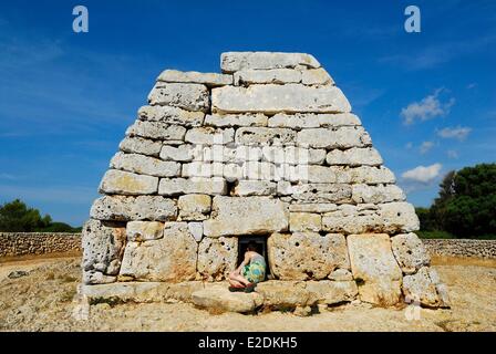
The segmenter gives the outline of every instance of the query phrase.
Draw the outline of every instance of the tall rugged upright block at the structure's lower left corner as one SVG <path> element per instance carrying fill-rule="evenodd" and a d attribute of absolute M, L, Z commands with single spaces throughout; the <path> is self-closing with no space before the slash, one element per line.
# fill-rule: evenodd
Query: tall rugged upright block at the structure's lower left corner
<path fill-rule="evenodd" d="M 90 219 L 83 226 L 83 282 L 97 284 L 112 282 L 121 267 L 126 244 L 126 229 L 122 223 Z"/>

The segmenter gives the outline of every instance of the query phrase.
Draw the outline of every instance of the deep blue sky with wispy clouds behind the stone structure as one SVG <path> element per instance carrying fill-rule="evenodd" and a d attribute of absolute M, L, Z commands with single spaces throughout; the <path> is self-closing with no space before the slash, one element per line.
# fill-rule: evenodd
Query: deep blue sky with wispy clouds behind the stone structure
<path fill-rule="evenodd" d="M 158 73 L 218 72 L 238 50 L 312 53 L 416 206 L 496 159 L 496 1 L 2 1 L 0 202 L 81 225 Z"/>

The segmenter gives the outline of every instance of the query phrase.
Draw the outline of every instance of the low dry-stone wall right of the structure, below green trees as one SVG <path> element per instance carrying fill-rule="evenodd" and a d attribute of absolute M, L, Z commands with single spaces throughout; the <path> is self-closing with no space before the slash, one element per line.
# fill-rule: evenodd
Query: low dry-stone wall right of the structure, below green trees
<path fill-rule="evenodd" d="M 496 259 L 496 240 L 423 239 L 428 253 Z"/>

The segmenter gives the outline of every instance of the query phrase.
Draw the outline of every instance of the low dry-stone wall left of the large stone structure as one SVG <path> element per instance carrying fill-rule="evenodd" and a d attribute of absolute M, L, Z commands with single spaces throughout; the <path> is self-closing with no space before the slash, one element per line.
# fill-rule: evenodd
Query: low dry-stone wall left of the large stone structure
<path fill-rule="evenodd" d="M 81 233 L 0 232 L 0 257 L 81 252 Z"/>

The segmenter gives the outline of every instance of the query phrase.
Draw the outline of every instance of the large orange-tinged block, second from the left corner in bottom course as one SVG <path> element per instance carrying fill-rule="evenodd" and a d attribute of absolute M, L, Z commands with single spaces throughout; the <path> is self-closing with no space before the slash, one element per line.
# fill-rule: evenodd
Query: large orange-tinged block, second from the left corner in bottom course
<path fill-rule="evenodd" d="M 162 239 L 126 244 L 120 275 L 143 281 L 194 280 L 197 250 L 186 222 L 165 222 Z"/>

